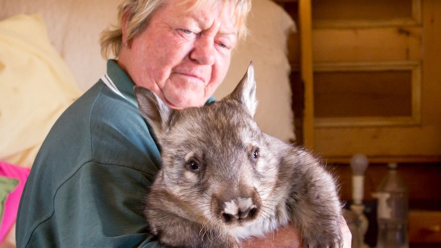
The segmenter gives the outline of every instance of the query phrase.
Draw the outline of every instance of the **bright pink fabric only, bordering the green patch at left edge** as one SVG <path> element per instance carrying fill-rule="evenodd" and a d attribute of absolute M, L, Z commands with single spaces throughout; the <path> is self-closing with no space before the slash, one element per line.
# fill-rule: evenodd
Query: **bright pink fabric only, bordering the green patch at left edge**
<path fill-rule="evenodd" d="M 8 164 L 0 161 L 0 175 L 16 178 L 20 182 L 17 187 L 8 195 L 5 210 L 3 212 L 2 225 L 0 226 L 0 241 L 8 234 L 17 217 L 18 203 L 20 202 L 21 192 L 25 187 L 26 179 L 31 170 L 24 167 Z"/>

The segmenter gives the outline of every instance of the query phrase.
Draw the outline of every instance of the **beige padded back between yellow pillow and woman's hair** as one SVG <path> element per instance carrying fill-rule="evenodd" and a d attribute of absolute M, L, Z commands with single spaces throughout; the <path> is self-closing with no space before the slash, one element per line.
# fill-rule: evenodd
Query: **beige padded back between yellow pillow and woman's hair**
<path fill-rule="evenodd" d="M 0 0 L 0 19 L 39 13 L 49 39 L 74 74 L 82 92 L 106 72 L 101 57 L 100 33 L 116 24 L 122 0 Z"/>

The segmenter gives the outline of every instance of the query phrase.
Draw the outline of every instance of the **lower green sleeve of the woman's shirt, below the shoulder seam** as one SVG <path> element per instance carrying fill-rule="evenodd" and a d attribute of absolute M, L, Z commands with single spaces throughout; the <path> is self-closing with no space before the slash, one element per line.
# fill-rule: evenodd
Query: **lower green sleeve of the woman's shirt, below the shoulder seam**
<path fill-rule="evenodd" d="M 36 227 L 27 246 L 161 247 L 143 214 L 152 181 L 135 168 L 84 164 L 57 190 L 53 215 Z"/>

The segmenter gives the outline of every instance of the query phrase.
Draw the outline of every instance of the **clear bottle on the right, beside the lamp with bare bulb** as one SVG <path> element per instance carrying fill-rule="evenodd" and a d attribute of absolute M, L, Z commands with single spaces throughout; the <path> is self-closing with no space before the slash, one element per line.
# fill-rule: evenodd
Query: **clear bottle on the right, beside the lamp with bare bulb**
<path fill-rule="evenodd" d="M 377 248 L 408 248 L 408 189 L 396 163 L 387 165 L 377 198 Z"/>

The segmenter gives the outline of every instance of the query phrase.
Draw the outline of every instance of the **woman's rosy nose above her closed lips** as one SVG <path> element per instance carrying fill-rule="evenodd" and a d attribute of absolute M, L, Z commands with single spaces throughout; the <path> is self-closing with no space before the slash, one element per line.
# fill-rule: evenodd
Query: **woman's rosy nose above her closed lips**
<path fill-rule="evenodd" d="M 214 40 L 210 37 L 200 36 L 194 40 L 193 50 L 190 52 L 190 59 L 199 64 L 214 64 L 215 60 Z"/>

